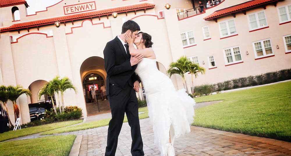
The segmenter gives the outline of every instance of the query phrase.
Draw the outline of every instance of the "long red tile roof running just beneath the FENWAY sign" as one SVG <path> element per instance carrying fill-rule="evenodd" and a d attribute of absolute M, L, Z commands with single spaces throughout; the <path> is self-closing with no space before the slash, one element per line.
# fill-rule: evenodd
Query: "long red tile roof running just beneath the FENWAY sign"
<path fill-rule="evenodd" d="M 61 16 L 61 17 L 54 17 L 54 18 L 49 18 L 49 19 L 40 19 L 36 21 L 17 23 L 17 24 L 13 24 L 10 27 L 1 28 L 0 31 L 1 32 L 11 31 L 11 30 L 17 30 L 21 28 L 29 28 L 29 27 L 35 27 L 35 26 L 54 24 L 56 21 L 60 21 L 60 22 L 72 21 L 72 20 L 78 20 L 78 19 L 111 15 L 113 12 L 121 13 L 121 12 L 143 10 L 143 9 L 154 8 L 154 7 L 155 7 L 155 4 L 141 3 L 141 4 L 123 6 L 123 7 L 118 7 L 118 8 L 110 8 L 110 9 L 97 10 L 97 11 L 85 12 L 85 13 L 68 15 L 68 16 Z"/>

